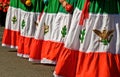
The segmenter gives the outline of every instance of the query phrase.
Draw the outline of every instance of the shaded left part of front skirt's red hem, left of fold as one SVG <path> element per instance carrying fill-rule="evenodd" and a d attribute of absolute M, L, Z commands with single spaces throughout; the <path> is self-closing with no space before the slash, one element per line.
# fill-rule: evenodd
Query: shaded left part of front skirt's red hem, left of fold
<path fill-rule="evenodd" d="M 61 49 L 59 59 L 55 68 L 57 75 L 63 77 L 75 77 L 78 52 L 66 48 Z"/>

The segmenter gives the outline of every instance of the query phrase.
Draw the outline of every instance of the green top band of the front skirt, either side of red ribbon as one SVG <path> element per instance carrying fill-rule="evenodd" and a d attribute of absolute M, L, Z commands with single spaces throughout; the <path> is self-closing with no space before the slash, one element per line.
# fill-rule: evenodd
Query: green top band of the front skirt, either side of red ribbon
<path fill-rule="evenodd" d="M 85 0 L 79 0 L 77 7 L 81 10 Z M 90 13 L 120 14 L 120 0 L 90 0 Z"/>

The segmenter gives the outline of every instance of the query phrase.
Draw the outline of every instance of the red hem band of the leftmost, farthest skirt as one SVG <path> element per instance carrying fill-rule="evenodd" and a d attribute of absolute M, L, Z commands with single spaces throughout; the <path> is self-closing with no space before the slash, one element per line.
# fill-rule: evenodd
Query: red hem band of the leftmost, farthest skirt
<path fill-rule="evenodd" d="M 2 38 L 2 46 L 8 46 L 10 48 L 17 48 L 19 36 L 20 36 L 19 31 L 5 29 L 3 38 Z"/>

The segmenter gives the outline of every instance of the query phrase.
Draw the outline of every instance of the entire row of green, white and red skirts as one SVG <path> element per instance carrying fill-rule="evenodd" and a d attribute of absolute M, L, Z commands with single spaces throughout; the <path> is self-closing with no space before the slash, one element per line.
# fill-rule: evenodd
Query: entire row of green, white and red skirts
<path fill-rule="evenodd" d="M 54 64 L 55 77 L 120 77 L 120 1 L 63 0 L 65 7 L 59 1 L 35 12 L 33 3 L 18 7 L 11 0 L 2 46 L 31 62 Z M 72 12 L 70 2 L 76 3 Z"/>

